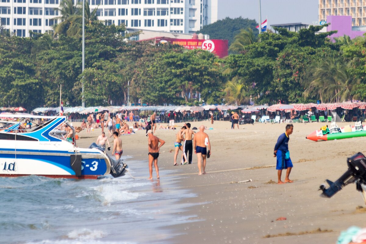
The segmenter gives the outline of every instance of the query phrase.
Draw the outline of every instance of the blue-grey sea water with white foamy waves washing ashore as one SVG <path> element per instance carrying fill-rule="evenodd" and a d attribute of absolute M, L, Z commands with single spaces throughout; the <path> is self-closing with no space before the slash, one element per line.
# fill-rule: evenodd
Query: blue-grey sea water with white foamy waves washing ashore
<path fill-rule="evenodd" d="M 180 200 L 195 195 L 187 189 L 168 189 L 177 188 L 179 176 L 158 181 L 153 170 L 155 179 L 146 180 L 146 161 L 124 162 L 131 175 L 119 178 L 0 177 L 0 243 L 169 243 L 181 233 L 167 226 L 195 217 L 184 214 L 189 200 Z M 160 169 L 160 176 L 174 173 Z"/>

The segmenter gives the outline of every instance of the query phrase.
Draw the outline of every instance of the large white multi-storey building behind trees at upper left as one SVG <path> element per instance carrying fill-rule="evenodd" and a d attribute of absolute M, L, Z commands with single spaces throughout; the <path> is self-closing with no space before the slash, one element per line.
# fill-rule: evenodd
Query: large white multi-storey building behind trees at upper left
<path fill-rule="evenodd" d="M 86 0 L 98 8 L 105 25 L 192 34 L 217 20 L 217 0 Z M 0 0 L 0 21 L 6 31 L 29 37 L 46 33 L 60 16 L 61 0 Z"/>

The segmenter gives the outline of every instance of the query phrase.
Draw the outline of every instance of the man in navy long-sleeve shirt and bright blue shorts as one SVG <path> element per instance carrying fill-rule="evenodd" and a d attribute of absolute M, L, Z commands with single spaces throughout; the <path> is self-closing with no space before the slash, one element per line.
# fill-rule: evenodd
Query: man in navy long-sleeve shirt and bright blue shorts
<path fill-rule="evenodd" d="M 275 145 L 275 152 L 273 157 L 277 157 L 277 166 L 278 170 L 278 184 L 292 183 L 288 177 L 290 176 L 291 169 L 293 167 L 292 161 L 290 158 L 290 152 L 288 151 L 288 142 L 290 140 L 290 135 L 294 130 L 294 125 L 288 124 L 286 125 L 286 132 L 281 134 L 277 139 L 277 143 Z M 281 181 L 282 170 L 287 169 L 285 181 Z"/>

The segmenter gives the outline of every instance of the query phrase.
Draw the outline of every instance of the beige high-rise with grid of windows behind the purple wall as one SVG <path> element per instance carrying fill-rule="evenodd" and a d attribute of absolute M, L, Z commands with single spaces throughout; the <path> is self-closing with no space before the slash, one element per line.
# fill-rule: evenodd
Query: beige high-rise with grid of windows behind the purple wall
<path fill-rule="evenodd" d="M 319 22 L 327 15 L 351 16 L 352 26 L 366 25 L 366 0 L 319 0 Z"/>

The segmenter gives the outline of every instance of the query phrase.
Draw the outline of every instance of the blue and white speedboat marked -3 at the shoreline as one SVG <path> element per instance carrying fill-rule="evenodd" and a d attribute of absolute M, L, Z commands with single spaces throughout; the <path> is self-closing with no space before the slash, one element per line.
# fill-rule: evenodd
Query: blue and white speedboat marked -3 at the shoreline
<path fill-rule="evenodd" d="M 75 129 L 64 116 L 5 117 L 0 114 L 0 176 L 97 179 L 124 175 L 127 165 L 122 159 L 112 159 L 95 143 L 77 147 Z"/>

